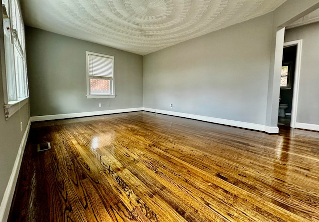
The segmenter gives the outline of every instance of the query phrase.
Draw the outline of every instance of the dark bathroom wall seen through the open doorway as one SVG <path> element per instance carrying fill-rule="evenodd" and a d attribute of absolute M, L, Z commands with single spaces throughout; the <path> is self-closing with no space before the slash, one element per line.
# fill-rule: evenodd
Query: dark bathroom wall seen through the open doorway
<path fill-rule="evenodd" d="M 294 89 L 294 80 L 295 80 L 295 65 L 296 65 L 296 52 L 297 46 L 293 45 L 290 47 L 284 48 L 283 53 L 283 64 L 287 62 L 292 62 L 292 70 L 291 70 L 291 78 L 292 78 L 292 85 L 289 89 L 280 89 L 280 103 L 288 104 L 289 108 L 286 109 L 286 113 L 291 113 L 291 107 L 293 103 L 293 89 Z"/>

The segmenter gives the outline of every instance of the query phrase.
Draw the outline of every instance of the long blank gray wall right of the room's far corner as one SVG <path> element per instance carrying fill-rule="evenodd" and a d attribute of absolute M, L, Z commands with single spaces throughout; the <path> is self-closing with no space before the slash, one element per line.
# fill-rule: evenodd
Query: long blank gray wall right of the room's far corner
<path fill-rule="evenodd" d="M 266 14 L 144 56 L 144 107 L 265 124 L 272 19 Z"/>

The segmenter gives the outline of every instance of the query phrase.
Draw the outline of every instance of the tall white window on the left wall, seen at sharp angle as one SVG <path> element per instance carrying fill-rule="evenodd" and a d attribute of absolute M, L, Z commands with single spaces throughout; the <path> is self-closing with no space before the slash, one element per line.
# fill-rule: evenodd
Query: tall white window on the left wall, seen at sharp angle
<path fill-rule="evenodd" d="M 4 61 L 2 75 L 5 118 L 27 102 L 24 24 L 17 0 L 2 0 Z"/>

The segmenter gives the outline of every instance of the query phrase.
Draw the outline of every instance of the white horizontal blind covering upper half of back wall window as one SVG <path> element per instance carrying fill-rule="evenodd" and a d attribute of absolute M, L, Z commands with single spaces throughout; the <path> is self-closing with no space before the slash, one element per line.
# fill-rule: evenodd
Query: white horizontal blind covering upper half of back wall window
<path fill-rule="evenodd" d="M 89 78 L 113 79 L 113 58 L 89 54 L 88 59 Z"/>

